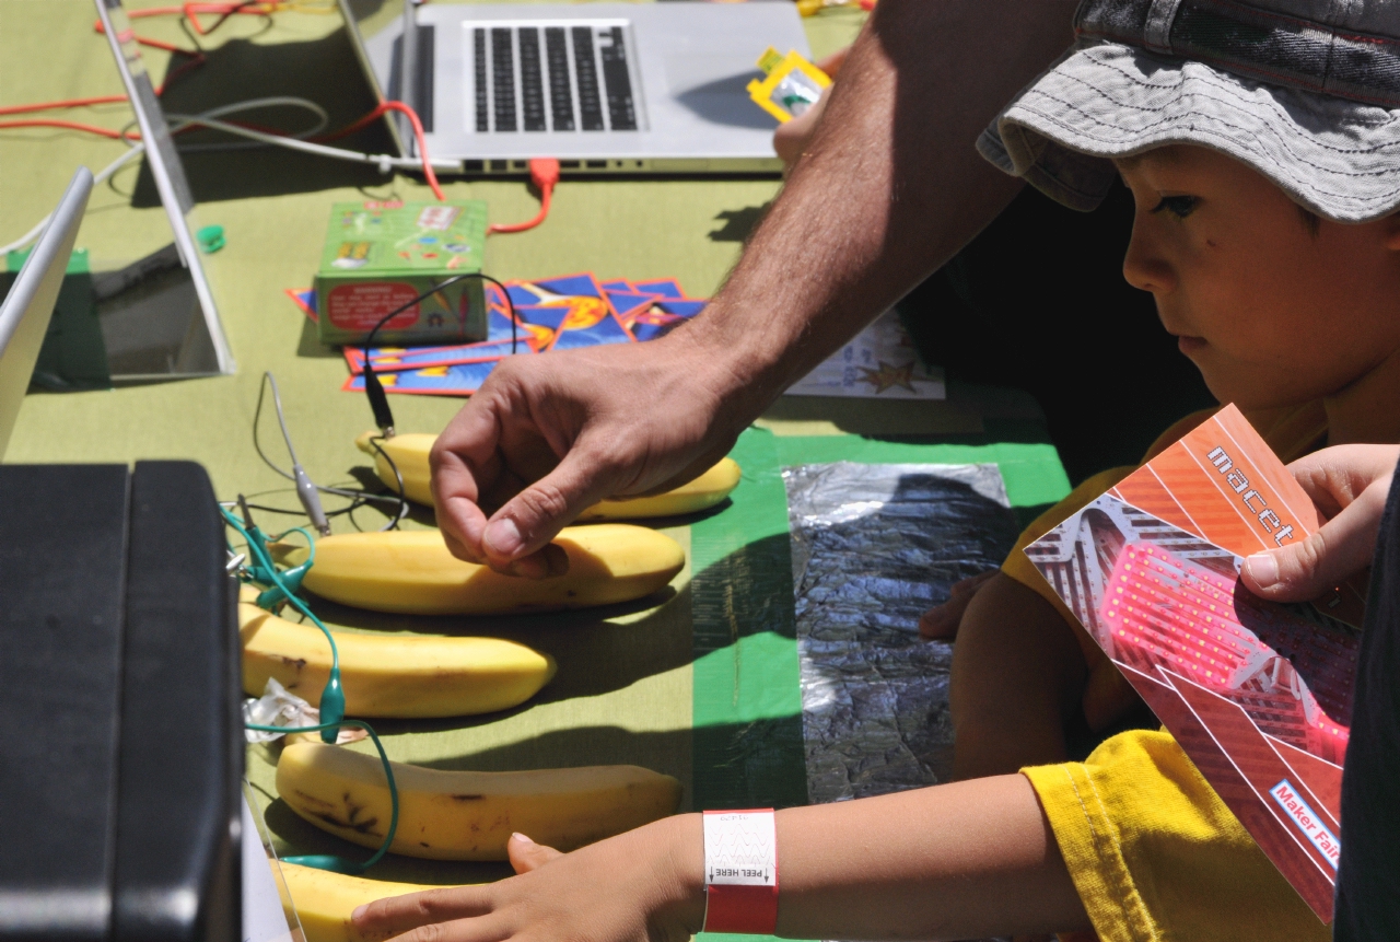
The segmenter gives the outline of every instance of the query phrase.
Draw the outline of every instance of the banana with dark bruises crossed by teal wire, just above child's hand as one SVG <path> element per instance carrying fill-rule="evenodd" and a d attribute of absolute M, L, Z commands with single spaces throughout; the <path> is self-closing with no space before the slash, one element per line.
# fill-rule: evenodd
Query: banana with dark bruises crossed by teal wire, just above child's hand
<path fill-rule="evenodd" d="M 503 861 L 519 831 L 571 851 L 675 813 L 680 782 L 637 766 L 535 771 L 438 771 L 391 763 L 399 830 L 391 850 L 451 861 Z M 389 824 L 389 788 L 375 756 L 300 742 L 277 761 L 277 794 L 316 827 L 378 847 Z"/>

